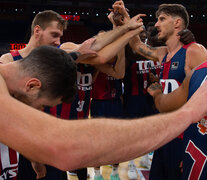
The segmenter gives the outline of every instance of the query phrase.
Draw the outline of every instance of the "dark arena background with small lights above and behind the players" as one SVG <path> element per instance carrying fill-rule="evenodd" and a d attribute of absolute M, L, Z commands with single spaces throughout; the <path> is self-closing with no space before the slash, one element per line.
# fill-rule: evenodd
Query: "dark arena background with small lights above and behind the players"
<path fill-rule="evenodd" d="M 0 0 L 0 55 L 6 53 L 13 43 L 27 43 L 33 17 L 40 11 L 52 9 L 68 18 L 68 29 L 62 42 L 81 43 L 100 30 L 111 29 L 107 19 L 108 8 L 113 0 Z M 198 43 L 207 47 L 206 0 L 125 0 L 130 15 L 146 13 L 144 23 L 156 21 L 155 12 L 162 3 L 183 4 L 190 15 L 189 29 Z"/>

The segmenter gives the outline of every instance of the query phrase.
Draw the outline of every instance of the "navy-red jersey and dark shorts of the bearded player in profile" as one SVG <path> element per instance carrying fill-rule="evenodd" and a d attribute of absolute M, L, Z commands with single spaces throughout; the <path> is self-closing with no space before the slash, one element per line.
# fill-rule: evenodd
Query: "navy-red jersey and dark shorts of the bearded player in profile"
<path fill-rule="evenodd" d="M 162 60 L 160 83 L 163 93 L 168 94 L 178 88 L 185 78 L 186 50 L 190 44 L 182 46 L 166 62 L 167 54 Z M 150 171 L 150 180 L 180 180 L 183 160 L 183 133 L 171 142 L 155 151 Z"/>

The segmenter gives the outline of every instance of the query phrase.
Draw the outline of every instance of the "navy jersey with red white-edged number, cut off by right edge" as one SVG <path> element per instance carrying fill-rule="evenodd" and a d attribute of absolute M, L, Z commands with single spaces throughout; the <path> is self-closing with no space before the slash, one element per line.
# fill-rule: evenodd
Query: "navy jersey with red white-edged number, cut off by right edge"
<path fill-rule="evenodd" d="M 188 99 L 207 79 L 207 62 L 194 71 L 190 83 Z M 192 124 L 184 132 L 185 153 L 183 158 L 183 177 L 189 180 L 207 179 L 207 116 Z"/>

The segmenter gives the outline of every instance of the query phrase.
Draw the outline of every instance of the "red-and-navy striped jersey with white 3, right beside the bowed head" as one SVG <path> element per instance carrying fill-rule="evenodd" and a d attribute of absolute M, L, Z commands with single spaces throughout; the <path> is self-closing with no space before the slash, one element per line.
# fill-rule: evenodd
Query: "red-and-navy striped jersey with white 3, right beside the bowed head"
<path fill-rule="evenodd" d="M 50 108 L 50 114 L 57 115 L 63 119 L 88 118 L 91 103 L 93 70 L 94 68 L 90 65 L 77 65 L 78 91 L 73 102 L 70 104 L 62 103 L 54 108 Z"/>

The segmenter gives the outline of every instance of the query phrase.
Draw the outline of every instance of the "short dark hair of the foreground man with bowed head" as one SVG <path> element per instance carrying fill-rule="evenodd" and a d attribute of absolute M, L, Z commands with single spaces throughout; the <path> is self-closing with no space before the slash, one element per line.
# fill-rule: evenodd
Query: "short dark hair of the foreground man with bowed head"
<path fill-rule="evenodd" d="M 65 51 L 52 46 L 40 46 L 18 62 L 23 73 L 42 82 L 41 94 L 50 99 L 62 97 L 64 102 L 72 100 L 77 87 L 77 69 Z"/>

